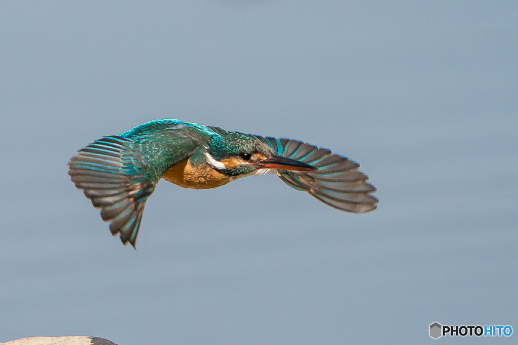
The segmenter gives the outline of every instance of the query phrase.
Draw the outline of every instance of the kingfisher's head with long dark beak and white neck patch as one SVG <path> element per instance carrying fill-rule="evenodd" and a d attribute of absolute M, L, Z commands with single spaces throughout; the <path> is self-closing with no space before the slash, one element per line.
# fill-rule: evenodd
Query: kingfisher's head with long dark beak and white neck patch
<path fill-rule="evenodd" d="M 205 156 L 223 174 L 248 175 L 261 169 L 318 170 L 310 164 L 276 155 L 262 137 L 223 130 L 219 134 L 212 138 Z"/>

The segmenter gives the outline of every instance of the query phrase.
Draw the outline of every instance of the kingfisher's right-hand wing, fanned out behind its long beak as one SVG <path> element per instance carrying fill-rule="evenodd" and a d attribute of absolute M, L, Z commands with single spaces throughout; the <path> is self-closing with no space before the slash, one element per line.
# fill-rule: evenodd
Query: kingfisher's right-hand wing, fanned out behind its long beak
<path fill-rule="evenodd" d="M 376 188 L 367 183 L 367 175 L 358 171 L 359 164 L 347 157 L 333 154 L 298 140 L 266 137 L 277 155 L 311 164 L 318 171 L 277 170 L 288 186 L 310 193 L 323 203 L 341 211 L 366 213 L 374 211 L 378 199 L 371 196 Z"/>

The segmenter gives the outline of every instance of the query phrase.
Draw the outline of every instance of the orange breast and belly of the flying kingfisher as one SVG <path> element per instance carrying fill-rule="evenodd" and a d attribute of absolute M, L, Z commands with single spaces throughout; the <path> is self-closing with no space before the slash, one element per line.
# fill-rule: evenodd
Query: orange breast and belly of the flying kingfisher
<path fill-rule="evenodd" d="M 162 177 L 177 186 L 193 189 L 216 188 L 235 179 L 214 170 L 208 164 L 193 165 L 189 158 L 169 168 Z"/>

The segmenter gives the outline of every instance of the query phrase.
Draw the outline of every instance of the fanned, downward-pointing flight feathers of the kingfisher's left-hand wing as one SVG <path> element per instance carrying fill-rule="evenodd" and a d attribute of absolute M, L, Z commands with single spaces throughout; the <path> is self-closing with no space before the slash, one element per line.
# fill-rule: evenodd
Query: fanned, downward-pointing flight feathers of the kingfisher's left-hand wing
<path fill-rule="evenodd" d="M 142 212 L 156 183 L 150 183 L 138 167 L 131 139 L 104 137 L 80 149 L 68 162 L 68 175 L 77 188 L 101 209 L 113 236 L 135 247 Z"/>

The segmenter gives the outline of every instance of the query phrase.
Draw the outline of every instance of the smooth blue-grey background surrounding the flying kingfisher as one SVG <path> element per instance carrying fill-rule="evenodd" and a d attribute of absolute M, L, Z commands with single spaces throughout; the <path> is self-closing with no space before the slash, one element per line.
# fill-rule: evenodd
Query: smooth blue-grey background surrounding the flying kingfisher
<path fill-rule="evenodd" d="M 161 181 L 124 247 L 66 164 L 155 118 L 330 147 L 379 208 Z M 516 1 L 2 1 L 0 342 L 513 343 L 517 132 Z"/>

